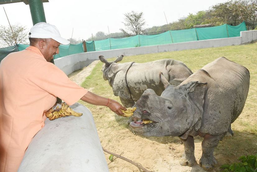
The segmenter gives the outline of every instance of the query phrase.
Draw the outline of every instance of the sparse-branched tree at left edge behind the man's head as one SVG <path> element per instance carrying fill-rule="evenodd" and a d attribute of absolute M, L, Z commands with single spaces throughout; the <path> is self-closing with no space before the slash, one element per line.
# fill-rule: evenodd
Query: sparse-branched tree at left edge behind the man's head
<path fill-rule="evenodd" d="M 17 44 L 28 44 L 29 32 L 27 31 L 26 27 L 20 24 L 15 24 L 11 26 L 12 30 L 9 26 L 0 26 L 0 46 L 13 46 L 15 45 L 15 40 Z"/>

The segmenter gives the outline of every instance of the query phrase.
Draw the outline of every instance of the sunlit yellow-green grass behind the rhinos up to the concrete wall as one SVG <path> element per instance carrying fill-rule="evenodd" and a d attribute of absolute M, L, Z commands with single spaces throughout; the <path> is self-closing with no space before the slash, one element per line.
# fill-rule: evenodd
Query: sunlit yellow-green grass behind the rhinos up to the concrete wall
<path fill-rule="evenodd" d="M 218 48 L 172 51 L 146 55 L 133 55 L 127 57 L 125 56 L 119 63 L 130 61 L 134 61 L 136 63 L 145 63 L 149 61 L 169 58 L 182 61 L 193 72 L 195 72 L 202 68 L 204 65 L 221 56 L 224 56 L 231 61 L 245 66 L 250 71 L 250 89 L 245 103 L 245 108 L 243 110 L 243 113 L 245 113 L 244 117 L 247 119 L 242 119 L 238 125 L 240 125 L 242 131 L 250 131 L 251 133 L 257 134 L 257 42 L 239 46 L 224 46 Z M 113 61 L 114 59 L 115 58 L 108 60 Z M 102 78 L 102 64 L 103 63 L 100 62 L 96 65 L 91 75 L 89 75 L 82 83 L 82 86 L 87 89 L 91 88 L 91 91 L 98 95 L 110 97 L 119 101 L 119 98 L 113 95 L 112 89 L 108 82 L 104 81 Z M 90 108 L 96 108 L 89 104 L 86 106 Z"/>

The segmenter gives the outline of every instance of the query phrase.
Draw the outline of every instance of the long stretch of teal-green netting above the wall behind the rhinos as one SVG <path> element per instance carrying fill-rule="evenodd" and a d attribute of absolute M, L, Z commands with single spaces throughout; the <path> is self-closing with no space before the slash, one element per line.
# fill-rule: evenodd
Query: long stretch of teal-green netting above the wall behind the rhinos
<path fill-rule="evenodd" d="M 245 22 L 242 22 L 237 26 L 223 24 L 208 28 L 170 30 L 157 35 L 136 35 L 133 37 L 117 39 L 108 38 L 105 40 L 95 41 L 95 49 L 96 51 L 102 51 L 137 46 L 152 46 L 206 39 L 238 37 L 240 36 L 240 32 L 245 30 L 247 30 Z"/>

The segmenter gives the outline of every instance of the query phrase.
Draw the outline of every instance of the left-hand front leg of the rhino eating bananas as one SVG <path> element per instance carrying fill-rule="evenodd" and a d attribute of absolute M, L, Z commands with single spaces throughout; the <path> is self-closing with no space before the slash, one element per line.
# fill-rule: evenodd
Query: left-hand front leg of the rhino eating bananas
<path fill-rule="evenodd" d="M 194 137 L 188 136 L 187 139 L 180 139 L 184 143 L 184 153 L 180 159 L 180 165 L 183 166 L 194 166 L 197 164 L 194 157 Z"/>

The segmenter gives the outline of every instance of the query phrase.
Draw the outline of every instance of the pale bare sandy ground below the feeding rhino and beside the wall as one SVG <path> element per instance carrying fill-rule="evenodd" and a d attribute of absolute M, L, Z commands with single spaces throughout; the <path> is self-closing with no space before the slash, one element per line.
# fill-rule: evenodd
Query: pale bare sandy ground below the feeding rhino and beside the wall
<path fill-rule="evenodd" d="M 93 62 L 88 67 L 83 68 L 79 72 L 69 75 L 70 79 L 77 84 L 81 84 L 86 76 L 91 73 L 95 64 Z M 106 114 L 106 107 L 96 107 L 90 109 L 92 114 L 103 114 L 102 116 L 94 116 L 98 135 L 102 147 L 110 152 L 121 154 L 123 157 L 131 161 L 140 163 L 149 171 L 156 172 L 202 172 L 204 171 L 198 164 L 201 158 L 202 138 L 195 138 L 195 157 L 197 165 L 193 167 L 181 166 L 179 159 L 184 151 L 184 146 L 178 137 L 149 137 L 145 138 L 133 134 L 126 125 L 128 118 L 119 117 L 114 113 Z M 106 161 L 110 172 L 139 172 L 138 168 L 131 163 L 122 159 L 115 159 L 110 162 L 110 154 L 105 153 Z M 214 156 L 217 158 L 214 152 Z M 219 160 L 222 157 L 218 157 Z M 218 164 L 220 166 L 222 164 Z M 218 168 L 213 172 L 220 171 Z"/>

